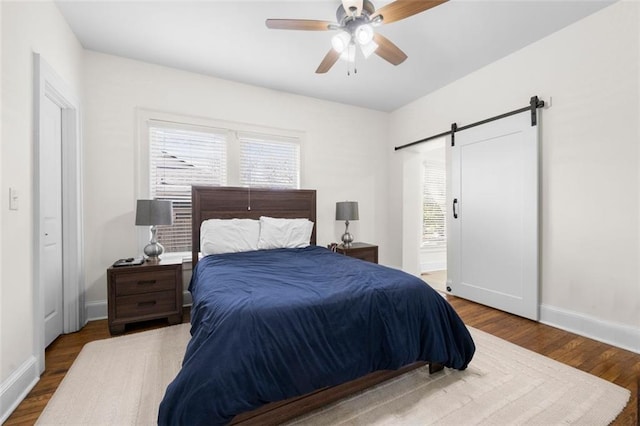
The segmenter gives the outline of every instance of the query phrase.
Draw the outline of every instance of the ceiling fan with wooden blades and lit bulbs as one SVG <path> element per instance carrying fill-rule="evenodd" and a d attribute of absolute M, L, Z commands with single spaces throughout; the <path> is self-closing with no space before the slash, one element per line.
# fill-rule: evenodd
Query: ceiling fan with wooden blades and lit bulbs
<path fill-rule="evenodd" d="M 323 74 L 340 59 L 355 60 L 356 46 L 365 58 L 373 53 L 399 65 L 407 55 L 374 27 L 408 18 L 447 0 L 395 0 L 376 10 L 369 0 L 342 0 L 336 11 L 337 22 L 312 19 L 267 19 L 268 28 L 278 30 L 340 31 L 331 39 L 332 49 L 326 54 L 316 73 Z M 354 70 L 357 72 L 357 70 Z"/>

